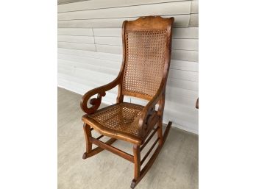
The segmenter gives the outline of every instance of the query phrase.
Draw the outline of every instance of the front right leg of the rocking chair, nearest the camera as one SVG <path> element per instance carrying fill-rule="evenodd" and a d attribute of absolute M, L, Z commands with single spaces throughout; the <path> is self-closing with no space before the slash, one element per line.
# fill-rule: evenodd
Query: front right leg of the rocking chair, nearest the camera
<path fill-rule="evenodd" d="M 133 146 L 134 155 L 134 179 L 131 183 L 131 188 L 135 188 L 135 183 L 138 181 L 141 174 L 141 149 L 140 146 Z"/>

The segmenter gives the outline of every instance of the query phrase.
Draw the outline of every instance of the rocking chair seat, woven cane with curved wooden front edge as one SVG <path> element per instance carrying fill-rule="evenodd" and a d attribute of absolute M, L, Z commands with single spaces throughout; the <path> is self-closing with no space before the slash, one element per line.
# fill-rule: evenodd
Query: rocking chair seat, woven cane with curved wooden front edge
<path fill-rule="evenodd" d="M 84 115 L 82 119 L 103 135 L 117 139 L 123 139 L 123 136 L 132 138 L 135 143 L 142 143 L 143 138 L 139 136 L 139 119 L 143 108 L 139 104 L 121 102 L 97 110 L 92 115 Z M 154 114 L 157 112 L 154 111 Z"/>

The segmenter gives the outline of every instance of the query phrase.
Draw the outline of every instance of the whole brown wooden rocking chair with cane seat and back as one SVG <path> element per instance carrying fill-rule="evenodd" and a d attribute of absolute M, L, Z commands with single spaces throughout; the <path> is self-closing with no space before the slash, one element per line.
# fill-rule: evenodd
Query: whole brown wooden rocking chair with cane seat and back
<path fill-rule="evenodd" d="M 160 16 L 146 16 L 135 21 L 124 21 L 122 26 L 123 63 L 118 76 L 113 82 L 85 93 L 81 100 L 81 108 L 87 113 L 82 117 L 86 140 L 86 152 L 82 158 L 92 157 L 106 149 L 134 163 L 135 172 L 131 188 L 135 188 L 149 171 L 171 128 L 171 122 L 169 122 L 163 134 L 163 109 L 171 60 L 173 23 L 174 18 Z M 115 86 L 118 86 L 116 104 L 97 110 L 102 96 Z M 97 98 L 90 99 L 96 94 Z M 124 96 L 135 96 L 149 102 L 143 107 L 124 102 Z M 91 107 L 88 107 L 89 99 Z M 92 137 L 93 129 L 101 134 L 98 138 Z M 156 132 L 157 140 L 141 160 L 141 151 Z M 110 140 L 105 143 L 99 140 L 104 136 L 110 137 Z M 117 139 L 132 143 L 133 156 L 111 146 Z M 157 142 L 157 149 L 141 170 L 141 165 Z M 99 147 L 92 149 L 92 144 Z"/>

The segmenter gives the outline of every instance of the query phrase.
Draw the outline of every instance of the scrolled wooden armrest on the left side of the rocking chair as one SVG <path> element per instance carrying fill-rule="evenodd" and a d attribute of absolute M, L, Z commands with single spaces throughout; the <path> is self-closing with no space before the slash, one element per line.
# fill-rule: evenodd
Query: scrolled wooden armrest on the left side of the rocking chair
<path fill-rule="evenodd" d="M 92 90 L 89 90 L 87 93 L 85 93 L 84 96 L 82 96 L 82 99 L 80 101 L 80 107 L 85 113 L 93 114 L 98 110 L 101 102 L 102 102 L 102 96 L 106 95 L 106 91 L 110 90 L 112 88 L 115 88 L 116 85 L 119 84 L 119 76 L 113 80 L 113 82 L 108 83 L 107 85 L 103 85 L 99 88 L 94 88 Z M 91 96 L 98 94 L 97 98 L 90 99 Z M 90 99 L 91 107 L 88 107 L 88 100 Z"/>

